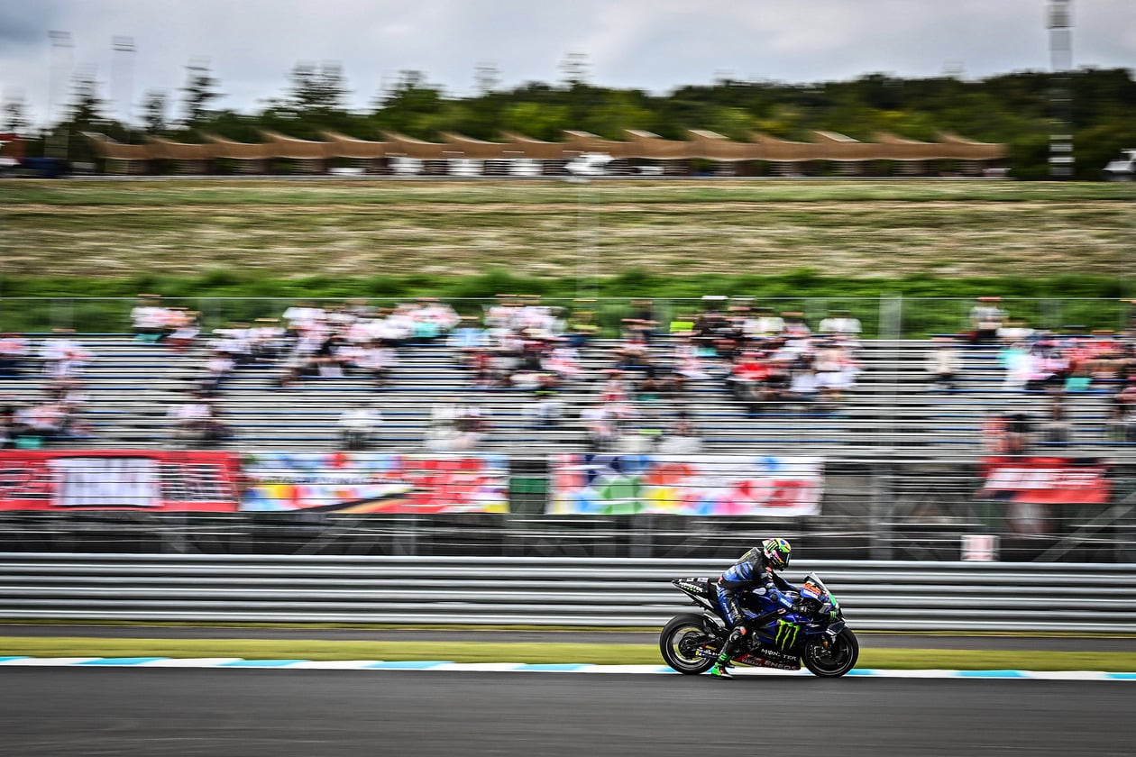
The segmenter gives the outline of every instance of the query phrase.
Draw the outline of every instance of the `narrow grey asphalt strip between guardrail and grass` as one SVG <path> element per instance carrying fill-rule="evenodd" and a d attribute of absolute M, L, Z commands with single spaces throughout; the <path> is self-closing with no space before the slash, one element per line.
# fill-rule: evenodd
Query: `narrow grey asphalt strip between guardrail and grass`
<path fill-rule="evenodd" d="M 854 628 L 854 626 L 853 626 Z M 0 624 L 0 637 L 87 637 L 100 639 L 295 639 L 340 641 L 484 641 L 646 644 L 658 642 L 658 631 L 427 631 L 368 629 L 270 629 L 166 625 L 20 625 Z M 862 648 L 876 649 L 995 649 L 1012 651 L 1136 651 L 1136 637 L 1010 637 L 857 634 Z"/>

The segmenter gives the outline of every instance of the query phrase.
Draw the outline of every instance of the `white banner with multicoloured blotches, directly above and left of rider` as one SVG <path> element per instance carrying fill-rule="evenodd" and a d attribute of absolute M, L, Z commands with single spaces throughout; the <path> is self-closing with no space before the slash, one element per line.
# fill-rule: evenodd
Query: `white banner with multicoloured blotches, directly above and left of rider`
<path fill-rule="evenodd" d="M 554 515 L 816 515 L 824 459 L 767 455 L 558 455 Z"/>

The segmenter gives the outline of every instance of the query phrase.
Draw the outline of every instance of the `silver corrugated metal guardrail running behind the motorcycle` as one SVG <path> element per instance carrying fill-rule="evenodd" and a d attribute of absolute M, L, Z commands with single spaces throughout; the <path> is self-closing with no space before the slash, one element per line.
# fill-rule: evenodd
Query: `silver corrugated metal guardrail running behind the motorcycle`
<path fill-rule="evenodd" d="M 658 628 L 720 561 L 0 553 L 0 619 Z M 1136 632 L 1136 565 L 802 561 L 853 629 Z"/>

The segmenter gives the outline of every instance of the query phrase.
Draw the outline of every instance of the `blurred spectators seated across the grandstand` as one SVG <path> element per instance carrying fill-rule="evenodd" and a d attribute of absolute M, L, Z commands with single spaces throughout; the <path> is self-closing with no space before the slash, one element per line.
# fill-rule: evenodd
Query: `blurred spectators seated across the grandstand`
<path fill-rule="evenodd" d="M 552 432 L 549 438 L 582 435 L 598 452 L 685 454 L 700 448 L 712 423 L 699 409 L 703 388 L 725 388 L 738 414 L 808 423 L 840 418 L 862 370 L 861 323 L 842 310 L 810 323 L 803 312 L 775 312 L 745 297 L 707 296 L 688 313 L 635 300 L 619 313 L 621 320 L 605 314 L 609 329 L 618 322 L 618 337 L 596 340 L 600 308 L 594 300 L 577 300 L 565 309 L 536 295 L 499 295 L 477 314 L 463 316 L 432 297 L 390 308 L 362 300 L 300 302 L 278 318 L 206 331 L 200 313 L 141 295 L 131 320 L 135 339 L 175 356 L 172 364 L 189 378 L 189 388 L 166 413 L 170 439 L 186 446 L 235 438 L 217 399 L 239 371 L 253 371 L 265 388 L 285 392 L 344 377 L 383 390 L 399 388 L 400 376 L 408 376 L 400 373 L 407 356 L 427 346 L 446 369 L 457 367 L 465 376 L 463 388 L 451 386 L 431 403 L 423 444 L 432 451 L 476 449 L 495 424 L 519 423 Z M 1068 444 L 1074 398 L 1088 389 L 1111 395 L 1109 437 L 1136 441 L 1130 334 L 1075 326 L 1061 333 L 1035 329 L 1011 319 L 997 297 L 978 298 L 969 318 L 969 330 L 933 339 L 924 363 L 928 387 L 966 390 L 968 373 L 987 365 L 1000 371 L 1008 397 L 1036 393 L 1044 398 L 1029 407 L 1009 401 L 988 409 L 987 451 L 1019 454 L 1036 441 Z M 994 360 L 969 360 L 977 354 L 971 350 Z M 93 439 L 84 388 L 93 360 L 67 329 L 34 343 L 0 335 L 0 378 L 34 376 L 40 392 L 32 401 L 2 403 L 0 444 Z M 418 373 L 431 364 L 414 362 Z M 501 414 L 503 403 L 494 402 L 501 393 L 516 397 L 504 404 L 517 409 L 519 421 Z M 343 402 L 339 446 L 382 444 L 384 414 L 396 411 L 398 395 L 344 396 L 365 398 Z"/>

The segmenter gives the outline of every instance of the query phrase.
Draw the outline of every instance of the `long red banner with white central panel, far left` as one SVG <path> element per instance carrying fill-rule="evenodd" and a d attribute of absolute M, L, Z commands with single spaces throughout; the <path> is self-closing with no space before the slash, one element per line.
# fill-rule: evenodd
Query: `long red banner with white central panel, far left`
<path fill-rule="evenodd" d="M 43 449 L 0 452 L 0 510 L 236 512 L 232 452 Z"/>

